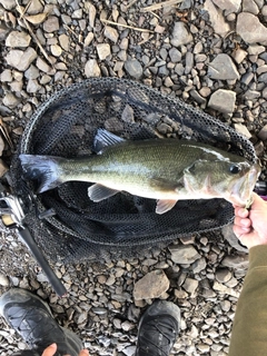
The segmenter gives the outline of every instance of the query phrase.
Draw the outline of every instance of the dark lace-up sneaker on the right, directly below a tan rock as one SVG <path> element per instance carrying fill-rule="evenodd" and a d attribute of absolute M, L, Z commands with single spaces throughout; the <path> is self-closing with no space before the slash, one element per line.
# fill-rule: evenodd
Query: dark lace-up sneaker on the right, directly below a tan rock
<path fill-rule="evenodd" d="M 140 319 L 136 356 L 168 356 L 179 328 L 179 307 L 171 301 L 155 301 Z"/>

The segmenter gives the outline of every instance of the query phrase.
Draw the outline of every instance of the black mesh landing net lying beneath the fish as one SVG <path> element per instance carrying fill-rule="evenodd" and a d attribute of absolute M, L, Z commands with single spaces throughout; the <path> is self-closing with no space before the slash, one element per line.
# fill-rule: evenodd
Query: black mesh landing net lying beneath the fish
<path fill-rule="evenodd" d="M 18 155 L 90 155 L 98 128 L 134 140 L 190 139 L 251 162 L 257 159 L 251 142 L 221 121 L 177 98 L 118 78 L 88 79 L 53 95 L 28 122 Z M 53 260 L 135 256 L 175 238 L 214 231 L 233 219 L 231 205 L 224 199 L 178 201 L 164 215 L 155 212 L 156 200 L 127 192 L 92 202 L 87 192 L 90 184 L 79 181 L 34 196 L 33 182 L 21 179 L 18 155 L 11 165 L 13 191 L 27 207 L 26 224 L 36 241 Z"/>

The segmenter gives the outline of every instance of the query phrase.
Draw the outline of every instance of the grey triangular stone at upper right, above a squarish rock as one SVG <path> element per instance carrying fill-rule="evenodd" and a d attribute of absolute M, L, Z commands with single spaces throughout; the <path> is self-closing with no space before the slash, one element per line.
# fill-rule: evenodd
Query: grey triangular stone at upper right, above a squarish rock
<path fill-rule="evenodd" d="M 209 63 L 208 76 L 212 79 L 231 80 L 239 79 L 236 65 L 226 53 L 219 53 Z"/>

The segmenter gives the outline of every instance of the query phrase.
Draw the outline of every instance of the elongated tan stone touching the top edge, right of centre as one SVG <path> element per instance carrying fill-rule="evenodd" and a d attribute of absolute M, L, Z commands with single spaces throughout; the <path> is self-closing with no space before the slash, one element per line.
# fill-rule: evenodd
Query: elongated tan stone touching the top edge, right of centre
<path fill-rule="evenodd" d="M 226 36 L 230 31 L 230 26 L 225 21 L 222 10 L 218 9 L 211 0 L 206 0 L 204 9 L 209 14 L 215 33 Z"/>

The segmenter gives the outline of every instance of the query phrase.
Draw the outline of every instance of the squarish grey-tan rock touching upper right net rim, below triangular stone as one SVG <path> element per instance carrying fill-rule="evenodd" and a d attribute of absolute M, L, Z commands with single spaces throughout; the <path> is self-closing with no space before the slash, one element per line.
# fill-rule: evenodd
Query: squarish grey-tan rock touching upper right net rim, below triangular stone
<path fill-rule="evenodd" d="M 209 99 L 208 106 L 219 112 L 233 113 L 236 102 L 236 92 L 226 89 L 218 89 Z"/>

